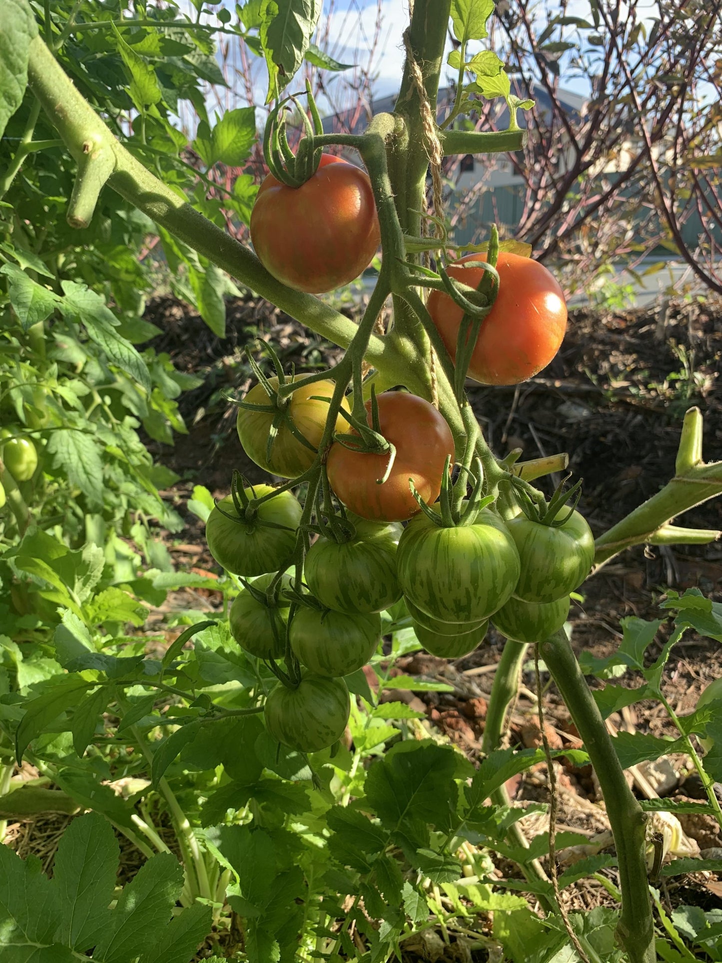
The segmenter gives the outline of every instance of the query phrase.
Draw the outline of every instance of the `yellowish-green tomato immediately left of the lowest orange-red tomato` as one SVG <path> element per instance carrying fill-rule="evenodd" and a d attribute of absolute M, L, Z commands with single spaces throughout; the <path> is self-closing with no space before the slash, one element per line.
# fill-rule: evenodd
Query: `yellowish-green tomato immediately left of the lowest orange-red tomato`
<path fill-rule="evenodd" d="M 270 377 L 271 388 L 278 387 L 278 378 Z M 328 402 L 333 394 L 333 381 L 315 381 L 297 388 L 282 401 L 283 406 L 272 411 L 253 411 L 240 407 L 236 416 L 236 428 L 245 454 L 271 475 L 292 479 L 310 468 L 321 444 L 328 414 Z M 265 407 L 271 399 L 263 385 L 256 384 L 245 396 L 246 404 Z M 346 399 L 342 407 L 348 411 Z M 274 419 L 280 424 L 271 431 Z M 346 422 L 342 415 L 336 420 L 336 430 L 344 431 Z M 300 436 L 300 437 L 299 437 Z M 305 439 L 306 444 L 301 439 Z"/>

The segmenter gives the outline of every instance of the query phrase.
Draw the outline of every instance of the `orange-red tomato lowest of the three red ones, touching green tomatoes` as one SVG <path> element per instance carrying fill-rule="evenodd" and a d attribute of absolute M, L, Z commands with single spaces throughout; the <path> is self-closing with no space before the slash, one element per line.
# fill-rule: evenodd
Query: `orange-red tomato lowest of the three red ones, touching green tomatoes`
<path fill-rule="evenodd" d="M 388 391 L 376 401 L 381 434 L 396 446 L 391 474 L 383 484 L 377 483 L 386 474 L 388 452 L 354 452 L 336 441 L 326 461 L 328 481 L 344 505 L 362 518 L 402 522 L 421 510 L 409 478 L 427 503 L 439 497 L 444 464 L 448 455 L 453 458 L 453 437 L 443 415 L 423 398 Z M 366 410 L 371 425 L 371 402 Z"/>

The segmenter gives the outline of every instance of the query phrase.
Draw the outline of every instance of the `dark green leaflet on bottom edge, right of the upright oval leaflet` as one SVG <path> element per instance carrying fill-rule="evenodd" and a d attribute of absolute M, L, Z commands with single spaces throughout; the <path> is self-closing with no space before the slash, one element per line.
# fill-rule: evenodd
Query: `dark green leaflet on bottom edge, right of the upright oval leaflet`
<path fill-rule="evenodd" d="M 175 856 L 151 857 L 124 887 L 93 956 L 103 963 L 128 963 L 144 952 L 157 939 L 159 925 L 170 919 L 182 889 L 183 869 Z"/>

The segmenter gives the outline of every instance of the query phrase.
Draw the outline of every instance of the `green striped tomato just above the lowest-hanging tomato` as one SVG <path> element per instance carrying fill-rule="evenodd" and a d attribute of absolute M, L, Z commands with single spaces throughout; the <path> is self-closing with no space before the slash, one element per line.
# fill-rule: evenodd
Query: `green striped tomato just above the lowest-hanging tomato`
<path fill-rule="evenodd" d="M 329 678 L 349 675 L 374 655 L 381 616 L 302 608 L 294 615 L 289 638 L 298 662 L 312 672 Z"/>

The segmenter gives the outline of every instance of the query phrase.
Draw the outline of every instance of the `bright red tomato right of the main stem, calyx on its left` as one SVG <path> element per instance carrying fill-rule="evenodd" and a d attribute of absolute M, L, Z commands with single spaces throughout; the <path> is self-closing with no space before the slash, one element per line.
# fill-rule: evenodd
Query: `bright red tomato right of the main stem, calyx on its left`
<path fill-rule="evenodd" d="M 485 261 L 469 254 L 464 261 Z M 483 384 L 518 384 L 546 368 L 559 350 L 567 327 L 564 293 L 554 274 L 529 257 L 501 251 L 497 262 L 499 294 L 481 322 L 469 377 Z M 449 269 L 451 277 L 476 288 L 483 268 Z M 443 291 L 428 296 L 428 313 L 452 358 L 464 312 Z"/>

